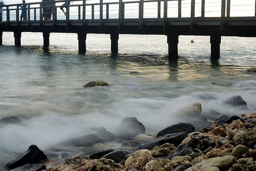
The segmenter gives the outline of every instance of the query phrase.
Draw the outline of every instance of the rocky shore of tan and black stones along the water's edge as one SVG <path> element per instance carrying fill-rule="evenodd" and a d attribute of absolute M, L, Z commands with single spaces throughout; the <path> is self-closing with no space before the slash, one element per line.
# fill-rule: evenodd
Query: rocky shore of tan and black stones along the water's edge
<path fill-rule="evenodd" d="M 224 103 L 247 108 L 240 96 Z M 65 140 L 61 145 L 92 147 L 130 138 L 141 142 L 134 151 L 99 150 L 68 158 L 62 165 L 46 169 L 48 157 L 36 145 L 23 156 L 7 164 L 13 171 L 256 171 L 256 113 L 239 116 L 221 115 L 216 111 L 204 116 L 202 106 L 194 103 L 178 113 L 180 122 L 150 136 L 135 117 L 124 118 L 112 134 L 105 128 Z M 218 116 L 208 121 L 207 116 Z M 214 118 L 212 116 L 212 118 Z"/>

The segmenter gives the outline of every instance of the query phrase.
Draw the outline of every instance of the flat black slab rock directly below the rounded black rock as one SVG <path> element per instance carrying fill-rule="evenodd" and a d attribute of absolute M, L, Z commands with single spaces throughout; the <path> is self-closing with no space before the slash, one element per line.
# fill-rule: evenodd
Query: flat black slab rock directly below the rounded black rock
<path fill-rule="evenodd" d="M 187 137 L 187 135 L 188 134 L 186 132 L 165 134 L 163 136 L 156 138 L 156 140 L 153 140 L 150 143 L 142 145 L 139 148 L 152 150 L 154 147 L 163 145 L 164 143 L 173 143 L 175 146 L 177 146 Z"/>

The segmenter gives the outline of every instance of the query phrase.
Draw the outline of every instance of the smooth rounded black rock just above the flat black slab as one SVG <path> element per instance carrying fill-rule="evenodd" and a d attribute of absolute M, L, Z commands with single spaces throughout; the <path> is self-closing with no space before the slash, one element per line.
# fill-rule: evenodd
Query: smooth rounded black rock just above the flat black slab
<path fill-rule="evenodd" d="M 187 134 L 189 134 L 191 132 L 194 132 L 194 130 L 195 130 L 195 127 L 189 122 L 180 122 L 178 124 L 174 124 L 158 132 L 156 137 L 158 138 L 165 134 L 173 134 L 173 133 L 180 133 L 180 132 L 186 132 Z"/>

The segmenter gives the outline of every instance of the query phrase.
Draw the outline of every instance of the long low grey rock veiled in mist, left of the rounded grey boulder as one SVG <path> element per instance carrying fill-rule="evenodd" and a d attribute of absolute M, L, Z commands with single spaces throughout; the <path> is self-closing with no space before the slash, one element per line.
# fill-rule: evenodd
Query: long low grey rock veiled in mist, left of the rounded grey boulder
<path fill-rule="evenodd" d="M 108 132 L 105 128 L 100 127 L 92 129 L 93 134 L 88 134 L 86 136 L 76 137 L 64 142 L 61 142 L 63 145 L 67 146 L 76 146 L 76 147 L 86 147 L 93 145 L 94 143 L 102 143 L 115 140 L 115 136 Z"/>

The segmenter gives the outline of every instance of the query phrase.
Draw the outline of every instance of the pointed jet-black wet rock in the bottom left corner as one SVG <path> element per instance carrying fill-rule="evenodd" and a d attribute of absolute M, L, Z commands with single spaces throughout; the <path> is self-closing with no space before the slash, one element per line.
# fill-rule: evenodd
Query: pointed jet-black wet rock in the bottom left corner
<path fill-rule="evenodd" d="M 30 145 L 28 150 L 21 156 L 13 161 L 6 164 L 9 169 L 14 169 L 16 167 L 25 164 L 37 164 L 41 161 L 47 160 L 48 158 L 42 150 L 40 150 L 36 145 Z"/>

